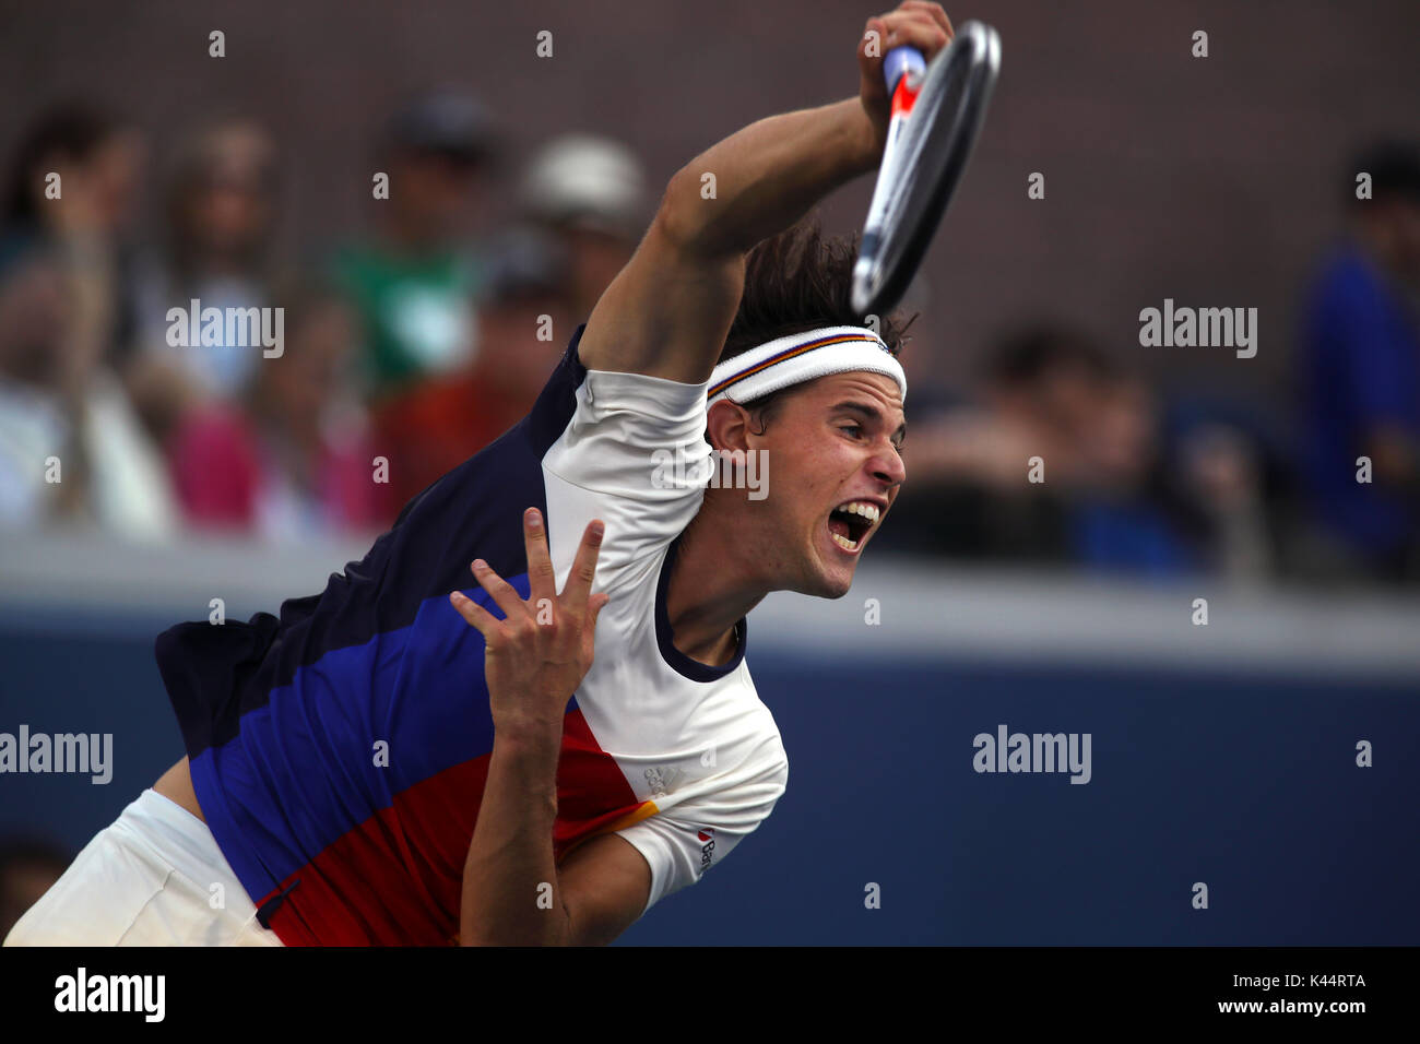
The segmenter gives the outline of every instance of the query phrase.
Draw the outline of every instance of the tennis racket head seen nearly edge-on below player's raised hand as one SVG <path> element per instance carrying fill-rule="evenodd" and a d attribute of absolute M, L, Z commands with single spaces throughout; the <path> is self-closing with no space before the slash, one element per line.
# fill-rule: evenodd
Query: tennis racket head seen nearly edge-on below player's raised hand
<path fill-rule="evenodd" d="M 1000 68 L 1001 37 L 980 21 L 964 23 L 927 64 L 896 155 L 879 168 L 870 213 L 882 219 L 863 230 L 853 311 L 886 314 L 907 291 L 966 173 Z"/>

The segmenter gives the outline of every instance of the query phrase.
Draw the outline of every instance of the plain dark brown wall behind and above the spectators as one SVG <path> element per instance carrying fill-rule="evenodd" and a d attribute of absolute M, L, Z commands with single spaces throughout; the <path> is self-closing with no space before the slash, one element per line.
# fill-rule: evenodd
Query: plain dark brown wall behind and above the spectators
<path fill-rule="evenodd" d="M 284 246 L 356 234 L 369 145 L 429 85 L 476 89 L 514 163 L 591 129 L 643 156 L 659 186 L 760 116 L 856 92 L 853 48 L 879 7 L 845 0 L 615 3 L 7 3 L 0 149 L 45 104 L 99 98 L 146 128 L 155 170 L 173 142 L 240 111 L 284 149 Z M 1414 0 L 1000 0 L 947 4 L 1003 37 L 973 168 L 929 254 L 909 369 L 970 372 L 1011 324 L 1083 324 L 1170 386 L 1237 392 L 1285 412 L 1299 291 L 1338 230 L 1342 161 L 1375 134 L 1417 134 Z M 207 57 L 207 33 L 227 55 Z M 1190 55 L 1208 33 L 1210 57 Z M 535 57 L 540 30 L 554 57 Z M 1039 170 L 1047 197 L 1027 197 Z M 856 227 L 869 185 L 838 193 Z M 149 193 L 149 206 L 155 203 Z M 493 214 L 494 222 L 497 214 Z M 1257 307 L 1260 351 L 1140 348 L 1137 312 Z"/>

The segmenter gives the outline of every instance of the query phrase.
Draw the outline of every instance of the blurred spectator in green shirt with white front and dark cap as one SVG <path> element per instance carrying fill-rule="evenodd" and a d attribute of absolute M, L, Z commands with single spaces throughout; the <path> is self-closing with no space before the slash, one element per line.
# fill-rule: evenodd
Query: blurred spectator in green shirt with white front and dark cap
<path fill-rule="evenodd" d="M 385 134 L 376 169 L 389 175 L 389 197 L 375 200 L 375 239 L 335 259 L 364 322 L 375 399 L 457 369 L 477 351 L 479 261 L 462 237 L 494 153 L 491 118 L 460 94 L 422 98 Z"/>

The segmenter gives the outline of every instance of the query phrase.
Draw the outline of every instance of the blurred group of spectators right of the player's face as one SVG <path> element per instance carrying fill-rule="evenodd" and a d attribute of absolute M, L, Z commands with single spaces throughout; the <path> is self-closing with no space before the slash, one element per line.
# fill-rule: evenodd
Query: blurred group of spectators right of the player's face
<path fill-rule="evenodd" d="M 1154 577 L 1420 582 L 1420 148 L 1376 142 L 1338 175 L 1342 233 L 1298 290 L 1288 386 L 1166 391 L 1127 345 L 1024 327 L 974 395 L 917 398 L 880 538 Z"/>

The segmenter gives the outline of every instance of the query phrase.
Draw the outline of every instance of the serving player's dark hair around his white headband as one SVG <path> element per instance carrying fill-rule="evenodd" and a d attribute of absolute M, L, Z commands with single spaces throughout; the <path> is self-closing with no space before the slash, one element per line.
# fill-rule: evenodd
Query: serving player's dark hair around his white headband
<path fill-rule="evenodd" d="M 865 317 L 852 305 L 856 260 L 858 234 L 825 237 L 816 214 L 808 214 L 755 244 L 746 257 L 744 294 L 719 361 L 818 327 L 865 325 Z M 878 335 L 895 357 L 906 345 L 907 327 L 916 318 L 913 315 L 903 322 L 897 314 L 878 317 Z M 760 435 L 781 396 L 795 388 L 782 388 L 741 403 L 760 420 Z"/>

